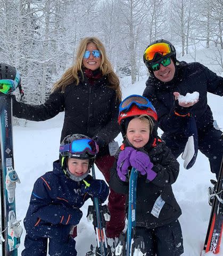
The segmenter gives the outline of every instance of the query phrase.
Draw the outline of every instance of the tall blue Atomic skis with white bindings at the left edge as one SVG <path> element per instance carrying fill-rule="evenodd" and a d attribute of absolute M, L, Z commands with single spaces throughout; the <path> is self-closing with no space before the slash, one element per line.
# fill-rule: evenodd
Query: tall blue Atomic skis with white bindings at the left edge
<path fill-rule="evenodd" d="M 0 92 L 1 123 L 1 243 L 2 256 L 17 256 L 22 227 L 16 220 L 15 187 L 20 183 L 14 170 L 11 92 Z"/>

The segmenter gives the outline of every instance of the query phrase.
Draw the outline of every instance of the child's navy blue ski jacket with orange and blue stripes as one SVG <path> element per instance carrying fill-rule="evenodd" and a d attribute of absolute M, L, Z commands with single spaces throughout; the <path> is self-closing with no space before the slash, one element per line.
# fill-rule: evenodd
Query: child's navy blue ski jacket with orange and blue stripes
<path fill-rule="evenodd" d="M 92 179 L 90 175 L 85 178 L 87 182 Z M 34 184 L 24 219 L 26 229 L 47 224 L 77 225 L 82 217 L 79 208 L 90 197 L 81 191 L 82 183 L 67 178 L 59 161 L 55 161 L 53 171 L 46 172 Z M 102 202 L 107 197 L 108 193 L 100 195 Z"/>

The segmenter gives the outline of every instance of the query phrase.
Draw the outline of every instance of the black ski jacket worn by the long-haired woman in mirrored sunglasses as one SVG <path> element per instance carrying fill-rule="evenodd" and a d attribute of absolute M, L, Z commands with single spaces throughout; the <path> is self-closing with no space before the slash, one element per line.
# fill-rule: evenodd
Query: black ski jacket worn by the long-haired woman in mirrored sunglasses
<path fill-rule="evenodd" d="M 43 105 L 28 105 L 13 99 L 13 115 L 32 121 L 45 121 L 65 111 L 61 141 L 69 134 L 80 133 L 92 138 L 102 137 L 108 144 L 120 132 L 118 113 L 120 101 L 115 91 L 108 87 L 106 76 L 94 85 L 80 77 L 80 83 L 72 83 L 65 91 L 49 95 Z"/>

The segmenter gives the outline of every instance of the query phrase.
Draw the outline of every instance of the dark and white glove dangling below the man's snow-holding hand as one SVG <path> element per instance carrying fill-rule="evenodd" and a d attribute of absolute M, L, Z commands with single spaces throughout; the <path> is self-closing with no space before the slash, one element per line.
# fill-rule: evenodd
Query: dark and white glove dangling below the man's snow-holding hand
<path fill-rule="evenodd" d="M 198 152 L 197 126 L 194 117 L 188 119 L 185 135 L 188 140 L 182 158 L 184 159 L 184 168 L 190 169 L 196 161 Z"/>

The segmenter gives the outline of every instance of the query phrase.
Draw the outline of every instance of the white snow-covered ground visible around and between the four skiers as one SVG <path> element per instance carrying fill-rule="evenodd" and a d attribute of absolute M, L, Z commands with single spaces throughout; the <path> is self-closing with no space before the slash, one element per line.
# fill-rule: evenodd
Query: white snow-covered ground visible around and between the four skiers
<path fill-rule="evenodd" d="M 146 77 L 131 85 L 129 78 L 122 79 L 123 98 L 130 94 L 141 94 L 145 89 Z M 213 111 L 214 119 L 219 127 L 223 127 L 222 98 L 209 94 L 208 103 Z M 14 155 L 15 167 L 21 184 L 16 187 L 17 218 L 23 219 L 29 205 L 29 199 L 35 180 L 47 171 L 52 170 L 52 163 L 59 157 L 59 143 L 63 124 L 63 114 L 45 122 L 27 123 L 26 127 L 14 127 Z M 161 134 L 161 131 L 159 131 Z M 121 134 L 116 139 L 122 141 Z M 208 187 L 214 175 L 210 172 L 208 159 L 199 152 L 195 165 L 190 170 L 183 168 L 180 162 L 180 173 L 173 185 L 177 201 L 183 214 L 179 218 L 184 237 L 184 256 L 199 256 L 207 231 L 211 207 L 208 205 Z M 96 177 L 103 179 L 103 175 L 96 169 Z M 83 217 L 78 226 L 77 251 L 83 256 L 89 251 L 90 244 L 95 244 L 95 234 L 92 223 L 86 219 L 90 200 L 82 207 Z M 23 224 L 22 224 L 23 226 Z M 24 249 L 22 243 L 19 255 Z M 223 243 L 222 243 L 223 245 Z M 208 255 L 212 255 L 209 253 Z M 214 255 L 214 254 L 213 254 Z M 219 255 L 223 255 L 223 246 Z"/>

